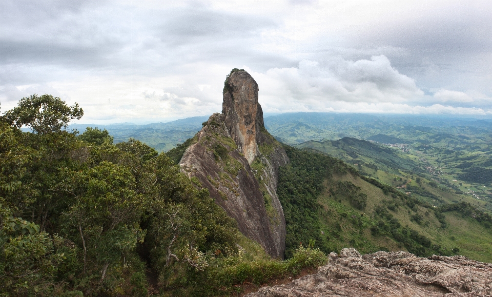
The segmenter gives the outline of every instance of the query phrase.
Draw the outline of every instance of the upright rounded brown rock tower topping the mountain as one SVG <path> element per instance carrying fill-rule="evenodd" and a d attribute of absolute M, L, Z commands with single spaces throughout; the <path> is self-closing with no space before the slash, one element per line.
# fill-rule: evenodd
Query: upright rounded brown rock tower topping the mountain
<path fill-rule="evenodd" d="M 258 84 L 242 69 L 233 69 L 224 83 L 222 113 L 226 126 L 251 164 L 258 155 L 257 132 L 264 127 L 263 111 L 258 103 Z"/>

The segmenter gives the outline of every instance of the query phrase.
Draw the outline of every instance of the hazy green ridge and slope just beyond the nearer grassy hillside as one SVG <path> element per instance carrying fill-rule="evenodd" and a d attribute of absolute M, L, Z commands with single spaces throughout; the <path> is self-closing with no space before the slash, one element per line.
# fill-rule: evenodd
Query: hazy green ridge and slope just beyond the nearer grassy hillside
<path fill-rule="evenodd" d="M 431 205 L 440 206 L 445 203 L 463 201 L 479 207 L 487 206 L 486 201 L 483 201 L 487 195 L 484 195 L 483 191 L 476 193 L 476 196 L 482 199 L 466 195 L 464 191 L 459 190 L 457 182 L 450 184 L 449 181 L 441 177 L 442 167 L 434 167 L 432 163 L 418 156 L 413 149 L 406 145 L 388 147 L 374 142 L 344 137 L 337 141 L 309 141 L 295 145 L 295 147 L 312 148 L 337 157 L 351 164 L 361 175 L 372 176 L 381 182 L 418 196 L 419 200 L 426 201 Z M 467 166 L 484 160 L 478 153 L 463 154 L 463 156 L 449 153 L 445 160 L 457 159 L 457 162 L 463 162 L 461 165 L 468 164 Z M 485 162 L 482 164 L 487 165 Z M 458 165 L 458 167 L 466 166 Z M 492 169 L 470 167 L 461 169 L 461 171 L 469 172 L 469 174 L 479 172 L 481 178 L 486 178 L 487 172 L 492 171 Z M 455 178 L 453 176 L 453 179 Z"/>

